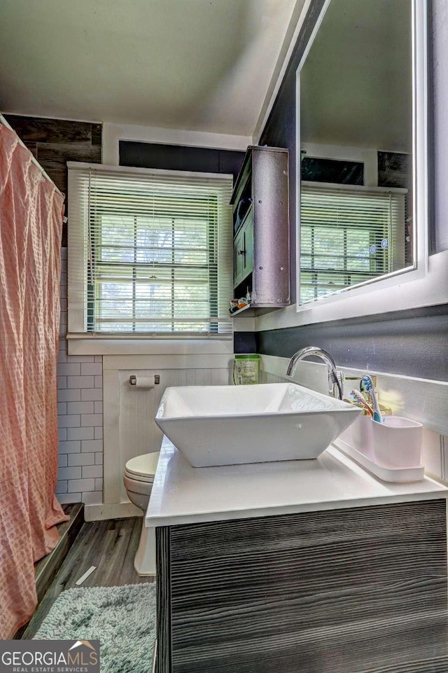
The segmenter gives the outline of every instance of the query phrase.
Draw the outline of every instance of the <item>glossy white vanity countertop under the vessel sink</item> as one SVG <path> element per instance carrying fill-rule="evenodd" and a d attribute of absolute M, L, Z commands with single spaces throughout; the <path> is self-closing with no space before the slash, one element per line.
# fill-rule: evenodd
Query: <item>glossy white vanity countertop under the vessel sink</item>
<path fill-rule="evenodd" d="M 429 477 L 409 484 L 382 482 L 335 447 L 314 460 L 195 468 L 165 437 L 146 526 L 447 497 L 448 488 Z"/>

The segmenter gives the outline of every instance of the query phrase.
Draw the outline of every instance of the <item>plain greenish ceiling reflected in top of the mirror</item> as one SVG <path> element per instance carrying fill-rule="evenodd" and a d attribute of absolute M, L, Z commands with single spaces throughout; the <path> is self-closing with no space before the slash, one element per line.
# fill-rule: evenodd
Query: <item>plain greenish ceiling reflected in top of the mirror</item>
<path fill-rule="evenodd" d="M 411 0 L 331 0 L 300 73 L 302 142 L 412 150 Z"/>

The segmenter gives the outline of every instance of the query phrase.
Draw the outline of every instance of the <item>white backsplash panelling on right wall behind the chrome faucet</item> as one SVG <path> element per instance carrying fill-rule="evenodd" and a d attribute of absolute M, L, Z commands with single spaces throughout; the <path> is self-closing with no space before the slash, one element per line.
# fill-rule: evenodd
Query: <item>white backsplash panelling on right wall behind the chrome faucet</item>
<path fill-rule="evenodd" d="M 260 356 L 260 382 L 277 383 L 286 376 L 288 358 Z M 345 376 L 362 376 L 364 370 L 338 367 Z M 448 383 L 369 371 L 377 377 L 378 398 L 398 416 L 423 423 L 423 463 L 428 475 L 448 483 Z M 316 362 L 300 362 L 293 380 L 321 393 L 327 392 L 327 368 Z M 346 382 L 346 396 L 349 392 Z"/>

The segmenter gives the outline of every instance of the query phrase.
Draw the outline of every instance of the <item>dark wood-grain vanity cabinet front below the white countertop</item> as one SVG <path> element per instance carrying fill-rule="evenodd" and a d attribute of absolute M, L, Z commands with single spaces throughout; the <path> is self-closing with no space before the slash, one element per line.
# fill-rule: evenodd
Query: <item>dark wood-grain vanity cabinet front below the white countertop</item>
<path fill-rule="evenodd" d="M 158 673 L 446 673 L 444 498 L 157 529 Z"/>

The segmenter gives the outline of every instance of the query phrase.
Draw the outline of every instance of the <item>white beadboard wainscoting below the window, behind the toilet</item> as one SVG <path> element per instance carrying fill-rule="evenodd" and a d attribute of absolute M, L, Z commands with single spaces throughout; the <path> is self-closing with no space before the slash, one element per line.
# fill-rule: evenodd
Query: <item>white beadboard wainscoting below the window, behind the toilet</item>
<path fill-rule="evenodd" d="M 158 451 L 162 433 L 154 417 L 167 387 L 230 384 L 233 355 L 119 355 L 103 357 L 104 481 L 101 504 L 86 504 L 87 521 L 141 515 L 123 485 L 126 462 Z M 151 389 L 130 376 L 160 375 Z"/>

